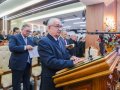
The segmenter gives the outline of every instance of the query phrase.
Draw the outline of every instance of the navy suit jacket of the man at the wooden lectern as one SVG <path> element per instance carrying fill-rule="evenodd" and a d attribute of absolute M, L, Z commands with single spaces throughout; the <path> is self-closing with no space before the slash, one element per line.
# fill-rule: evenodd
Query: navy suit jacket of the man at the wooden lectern
<path fill-rule="evenodd" d="M 67 55 L 66 48 L 61 40 L 59 43 L 60 45 L 48 34 L 38 44 L 43 77 L 52 77 L 56 71 L 73 66 L 73 61 L 70 60 L 70 55 Z"/>

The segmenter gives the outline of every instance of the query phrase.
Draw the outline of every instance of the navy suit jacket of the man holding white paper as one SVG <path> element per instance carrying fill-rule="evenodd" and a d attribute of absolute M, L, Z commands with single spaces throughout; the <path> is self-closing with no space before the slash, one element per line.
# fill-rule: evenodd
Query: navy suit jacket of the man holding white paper
<path fill-rule="evenodd" d="M 11 51 L 11 57 L 9 60 L 9 67 L 13 70 L 24 70 L 28 63 L 29 53 L 25 50 L 26 43 L 21 34 L 11 36 L 9 40 L 9 49 Z M 34 46 L 32 40 L 27 37 L 27 45 Z M 30 63 L 31 63 L 30 59 Z"/>

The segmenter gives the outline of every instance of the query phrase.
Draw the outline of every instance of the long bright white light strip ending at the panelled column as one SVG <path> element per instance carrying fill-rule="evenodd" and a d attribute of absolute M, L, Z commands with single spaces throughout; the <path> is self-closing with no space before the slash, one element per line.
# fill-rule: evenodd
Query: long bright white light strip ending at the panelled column
<path fill-rule="evenodd" d="M 63 14 L 67 14 L 67 13 L 77 12 L 77 11 L 84 10 L 85 8 L 86 8 L 86 6 L 81 6 L 81 7 L 70 8 L 70 9 L 62 10 L 62 11 L 58 11 L 58 12 L 51 12 L 51 13 L 48 13 L 48 14 L 45 14 L 45 15 L 40 15 L 38 17 L 26 19 L 23 22 L 29 22 L 29 21 L 34 21 L 34 20 L 38 20 L 38 19 L 44 19 L 44 18 L 48 18 L 48 17 L 52 17 L 52 16 L 57 16 L 57 15 L 63 15 Z"/>

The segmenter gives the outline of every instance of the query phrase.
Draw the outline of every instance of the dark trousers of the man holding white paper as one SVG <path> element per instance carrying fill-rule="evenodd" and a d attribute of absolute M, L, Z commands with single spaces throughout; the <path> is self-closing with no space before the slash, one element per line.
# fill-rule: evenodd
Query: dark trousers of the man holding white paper
<path fill-rule="evenodd" d="M 12 85 L 13 90 L 21 90 L 21 82 L 23 90 L 30 90 L 31 65 L 28 63 L 25 70 L 12 69 Z"/>

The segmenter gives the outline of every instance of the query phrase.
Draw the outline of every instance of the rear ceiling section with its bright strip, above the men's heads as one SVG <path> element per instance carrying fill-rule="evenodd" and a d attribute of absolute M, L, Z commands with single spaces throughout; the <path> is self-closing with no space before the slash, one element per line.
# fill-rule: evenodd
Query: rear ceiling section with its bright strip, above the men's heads
<path fill-rule="evenodd" d="M 22 21 L 32 23 L 32 24 L 42 24 L 43 21 L 48 20 L 50 17 L 57 17 L 57 18 L 60 18 L 62 20 L 63 27 L 66 28 L 66 29 L 69 29 L 69 30 L 74 29 L 76 31 L 77 30 L 86 30 L 86 23 L 79 23 L 79 22 L 85 22 L 85 18 L 83 18 L 84 17 L 83 12 L 84 12 L 85 9 L 86 9 L 86 6 L 83 3 L 77 2 L 77 3 L 61 6 L 61 7 L 58 7 L 58 8 L 54 8 L 54 9 L 51 9 L 51 10 L 38 12 L 38 13 L 29 15 L 29 16 L 26 16 L 26 17 L 22 17 L 20 19 Z M 71 11 L 67 12 L 69 10 L 71 10 Z M 65 11 L 65 12 L 60 14 L 61 11 Z M 55 14 L 56 12 L 59 13 L 59 14 L 58 15 Z M 51 15 L 51 16 L 49 16 L 49 15 Z M 39 17 L 39 18 L 37 18 L 37 17 Z M 35 20 L 34 20 L 34 18 L 35 18 Z M 76 19 L 76 20 L 66 21 L 68 19 Z"/>

